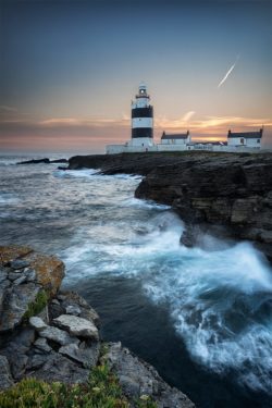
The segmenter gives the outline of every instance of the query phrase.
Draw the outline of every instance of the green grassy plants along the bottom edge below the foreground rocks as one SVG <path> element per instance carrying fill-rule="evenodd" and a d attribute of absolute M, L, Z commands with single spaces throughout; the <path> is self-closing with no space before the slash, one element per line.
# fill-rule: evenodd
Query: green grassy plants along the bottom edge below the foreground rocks
<path fill-rule="evenodd" d="M 137 408 L 157 408 L 150 397 L 143 395 Z M 128 408 L 116 376 L 108 364 L 95 367 L 87 384 L 66 385 L 24 379 L 0 393 L 1 408 Z"/>

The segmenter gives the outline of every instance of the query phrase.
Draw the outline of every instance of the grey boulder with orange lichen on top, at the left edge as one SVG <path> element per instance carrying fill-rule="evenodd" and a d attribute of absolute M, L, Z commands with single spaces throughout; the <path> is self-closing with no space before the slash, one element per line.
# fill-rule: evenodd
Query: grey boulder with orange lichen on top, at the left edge
<path fill-rule="evenodd" d="M 64 264 L 55 257 L 17 246 L 0 246 L 0 261 L 1 333 L 22 322 L 41 287 L 48 296 L 57 293 L 64 276 Z"/>

